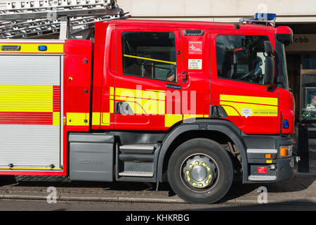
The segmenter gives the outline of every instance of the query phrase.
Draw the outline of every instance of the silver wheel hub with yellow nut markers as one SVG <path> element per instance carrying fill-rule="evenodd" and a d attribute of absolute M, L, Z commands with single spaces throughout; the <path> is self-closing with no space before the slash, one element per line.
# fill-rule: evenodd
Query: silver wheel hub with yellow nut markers
<path fill-rule="evenodd" d="M 206 155 L 196 155 L 183 165 L 183 179 L 191 187 L 206 188 L 216 179 L 216 167 Z"/>

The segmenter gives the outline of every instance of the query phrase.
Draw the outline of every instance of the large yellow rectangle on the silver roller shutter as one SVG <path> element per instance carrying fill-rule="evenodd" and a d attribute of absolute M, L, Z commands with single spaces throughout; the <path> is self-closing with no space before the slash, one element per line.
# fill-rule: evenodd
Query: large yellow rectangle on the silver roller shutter
<path fill-rule="evenodd" d="M 0 112 L 53 112 L 53 86 L 0 85 Z"/>

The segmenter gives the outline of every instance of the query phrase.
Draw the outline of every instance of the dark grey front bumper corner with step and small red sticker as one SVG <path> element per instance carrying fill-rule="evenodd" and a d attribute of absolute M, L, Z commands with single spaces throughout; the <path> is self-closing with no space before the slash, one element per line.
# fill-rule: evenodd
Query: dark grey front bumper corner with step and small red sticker
<path fill-rule="evenodd" d="M 247 183 L 286 181 L 294 174 L 294 157 L 281 158 L 280 147 L 291 146 L 291 136 L 244 135 L 247 148 Z M 266 158 L 266 155 L 271 158 Z"/>

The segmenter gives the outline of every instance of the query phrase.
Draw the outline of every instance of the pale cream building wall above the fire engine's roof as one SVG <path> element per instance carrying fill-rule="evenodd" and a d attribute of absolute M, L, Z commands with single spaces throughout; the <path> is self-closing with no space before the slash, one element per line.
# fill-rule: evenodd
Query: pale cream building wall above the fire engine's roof
<path fill-rule="evenodd" d="M 0 0 L 0 4 L 5 2 Z M 277 13 L 277 22 L 316 22 L 315 0 L 117 0 L 117 2 L 134 18 L 238 22 L 241 17 L 268 11 Z"/>

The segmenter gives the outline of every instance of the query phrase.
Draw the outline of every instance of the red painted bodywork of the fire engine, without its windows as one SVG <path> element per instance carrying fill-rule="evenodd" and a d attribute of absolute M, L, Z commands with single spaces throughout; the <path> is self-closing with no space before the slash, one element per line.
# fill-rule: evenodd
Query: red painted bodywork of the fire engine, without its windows
<path fill-rule="evenodd" d="M 202 36 L 185 36 L 185 30 L 203 30 Z M 146 79 L 123 75 L 121 56 L 121 33 L 138 31 L 164 31 L 173 32 L 176 35 L 177 75 L 176 85 L 180 86 L 180 94 L 196 95 L 196 112 L 188 117 L 209 117 L 209 105 L 224 105 L 231 108 L 232 115 L 221 120 L 229 120 L 245 134 L 270 134 L 276 135 L 280 131 L 280 113 L 283 119 L 289 120 L 289 129 L 283 129 L 283 134 L 294 131 L 294 98 L 285 89 L 276 87 L 274 91 L 267 91 L 266 86 L 237 82 L 228 79 L 219 79 L 216 70 L 216 44 L 215 39 L 219 34 L 256 34 L 267 35 L 275 46 L 275 33 L 289 34 L 291 30 L 261 25 L 240 25 L 235 29 L 230 23 L 195 23 L 175 21 L 142 21 L 142 20 L 113 20 L 110 23 L 96 23 L 95 41 L 66 40 L 64 67 L 64 129 L 63 129 L 63 170 L 62 172 L 16 172 L 6 171 L 1 174 L 27 174 L 27 175 L 67 175 L 68 144 L 67 134 L 70 131 L 103 132 L 109 130 L 124 131 L 168 131 L 190 114 L 183 110 L 183 95 L 172 98 L 172 104 L 180 103 L 180 112 L 171 113 L 171 120 L 164 114 L 149 115 L 118 115 L 115 114 L 115 101 L 120 101 L 117 92 L 119 89 L 137 90 L 141 85 L 143 91 L 155 91 L 157 94 L 166 89 L 170 82 Z M 192 45 L 197 51 L 192 51 Z M 200 70 L 189 69 L 188 59 L 202 59 Z M 183 72 L 187 74 L 186 82 Z M 91 86 L 92 84 L 92 86 Z M 222 99 L 221 95 L 235 96 Z M 236 97 L 237 96 L 237 97 Z M 248 98 L 238 98 L 246 96 Z M 277 116 L 251 116 L 243 117 L 232 105 L 238 103 L 249 104 L 247 99 L 260 98 L 256 105 L 265 107 L 277 107 Z M 145 99 L 145 96 L 140 96 Z M 256 99 L 254 98 L 254 99 Z M 136 102 L 139 97 L 136 95 Z M 277 99 L 277 105 L 265 103 L 265 99 Z M 157 99 L 161 101 L 161 99 Z M 165 100 L 164 104 L 168 104 Z M 191 108 L 188 102 L 185 108 Z M 143 105 L 140 105 L 143 107 Z M 235 111 L 234 111 L 235 110 Z M 233 113 L 235 112 L 235 114 Z M 67 114 L 68 113 L 68 114 Z M 83 124 L 71 124 L 69 113 L 86 118 Z M 180 114 L 176 115 L 176 114 Z M 239 114 L 239 115 L 237 115 Z"/>

